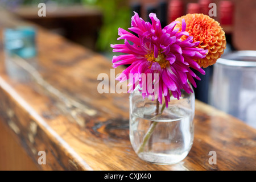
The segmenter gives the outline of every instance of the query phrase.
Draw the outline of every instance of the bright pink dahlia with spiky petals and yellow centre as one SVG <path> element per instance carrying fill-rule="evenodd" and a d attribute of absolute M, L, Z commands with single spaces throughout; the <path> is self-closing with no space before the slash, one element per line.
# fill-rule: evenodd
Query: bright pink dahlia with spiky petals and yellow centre
<path fill-rule="evenodd" d="M 190 68 L 205 74 L 195 59 L 204 58 L 208 50 L 196 47 L 200 42 L 193 43 L 193 37 L 185 31 L 184 19 L 182 20 L 182 30 L 178 32 L 179 28 L 174 29 L 174 27 L 179 22 L 172 22 L 162 29 L 160 20 L 154 13 L 151 13 L 149 17 L 152 24 L 139 18 L 137 13 L 131 18 L 131 28 L 128 29 L 138 36 L 118 28 L 118 40 L 124 39 L 125 44 L 112 44 L 111 47 L 114 48 L 113 52 L 125 54 L 113 56 L 113 68 L 130 64 L 116 80 L 122 82 L 129 78 L 129 74 L 137 75 L 129 80 L 129 85 L 133 85 L 129 92 L 133 92 L 139 85 L 140 91 L 144 91 L 142 92 L 143 97 L 152 95 L 148 91 L 147 83 L 148 75 L 150 75 L 154 89 L 153 94 L 158 94 L 160 104 L 162 104 L 164 96 L 168 107 L 170 92 L 179 99 L 181 89 L 187 93 L 192 92 L 188 81 L 196 87 L 194 78 L 197 80 L 200 78 Z M 188 38 L 181 40 L 183 35 Z M 143 73 L 147 76 L 146 80 L 142 79 Z M 155 73 L 158 73 L 157 77 Z M 158 88 L 154 87 L 156 84 L 158 84 Z"/>

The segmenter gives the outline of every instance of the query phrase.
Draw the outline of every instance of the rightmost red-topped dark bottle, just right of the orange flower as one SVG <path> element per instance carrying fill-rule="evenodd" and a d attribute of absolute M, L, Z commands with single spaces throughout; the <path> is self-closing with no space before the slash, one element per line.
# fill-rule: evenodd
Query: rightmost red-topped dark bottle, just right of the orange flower
<path fill-rule="evenodd" d="M 226 35 L 226 52 L 236 51 L 236 47 L 233 44 L 233 19 L 234 3 L 232 1 L 220 1 L 219 23 L 223 27 Z"/>

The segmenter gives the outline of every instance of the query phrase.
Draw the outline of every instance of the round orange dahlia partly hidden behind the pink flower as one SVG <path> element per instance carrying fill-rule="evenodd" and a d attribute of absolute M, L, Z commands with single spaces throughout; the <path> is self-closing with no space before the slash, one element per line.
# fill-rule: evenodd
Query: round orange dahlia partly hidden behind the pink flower
<path fill-rule="evenodd" d="M 187 14 L 176 20 L 180 23 L 176 24 L 176 28 L 182 28 L 182 19 L 185 20 L 187 26 L 185 31 L 189 36 L 193 36 L 193 42 L 200 41 L 198 48 L 208 49 L 206 57 L 195 60 L 200 67 L 207 68 L 209 65 L 216 63 L 226 48 L 225 32 L 222 30 L 220 23 L 213 18 L 204 14 Z M 183 35 L 182 40 L 187 39 Z"/>

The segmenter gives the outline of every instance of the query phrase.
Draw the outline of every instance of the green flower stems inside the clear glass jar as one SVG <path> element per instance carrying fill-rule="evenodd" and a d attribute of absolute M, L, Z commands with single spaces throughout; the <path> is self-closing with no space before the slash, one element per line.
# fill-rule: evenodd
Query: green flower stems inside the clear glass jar
<path fill-rule="evenodd" d="M 162 106 L 162 109 L 161 109 L 161 113 L 159 114 L 159 101 L 156 100 L 156 115 L 153 118 L 151 118 L 151 120 L 154 120 L 156 117 L 161 115 L 163 113 L 163 110 L 164 110 L 165 106 L 166 106 L 166 102 L 164 102 L 164 104 Z M 150 125 L 149 129 L 147 130 L 146 135 L 143 138 L 143 142 L 141 144 L 141 147 L 139 147 L 139 150 L 138 150 L 137 154 L 139 154 L 139 153 L 144 151 L 144 147 L 146 146 L 146 144 L 148 142 L 148 139 L 150 139 L 150 137 L 151 137 L 151 135 L 152 135 L 152 133 L 153 133 L 157 123 L 158 123 L 157 121 L 152 121 L 151 122 L 151 125 Z"/>

